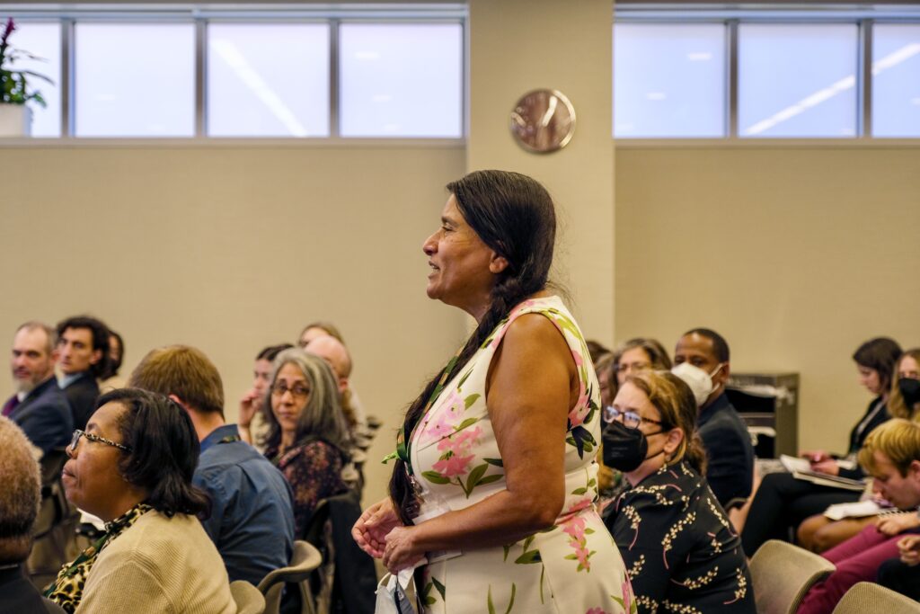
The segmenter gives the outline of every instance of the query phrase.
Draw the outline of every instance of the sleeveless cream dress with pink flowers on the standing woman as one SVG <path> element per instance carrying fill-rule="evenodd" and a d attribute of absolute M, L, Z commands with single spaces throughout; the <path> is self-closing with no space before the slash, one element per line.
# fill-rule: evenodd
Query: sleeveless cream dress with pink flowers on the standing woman
<path fill-rule="evenodd" d="M 421 574 L 425 611 L 635 612 L 626 568 L 598 516 L 597 442 L 600 388 L 578 325 L 557 296 L 524 301 L 447 383 L 409 442 L 425 508 L 464 509 L 505 489 L 505 476 L 485 389 L 489 365 L 512 321 L 526 313 L 548 318 L 565 337 L 581 394 L 569 412 L 565 450 L 566 500 L 556 523 L 495 548 L 432 556 Z M 535 480 L 539 480 L 535 476 Z"/>

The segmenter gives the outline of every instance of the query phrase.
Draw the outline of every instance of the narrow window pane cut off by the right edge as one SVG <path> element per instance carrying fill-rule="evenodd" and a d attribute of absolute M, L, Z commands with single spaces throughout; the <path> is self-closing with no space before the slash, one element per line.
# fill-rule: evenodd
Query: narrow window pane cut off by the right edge
<path fill-rule="evenodd" d="M 872 134 L 920 136 L 920 24 L 873 28 Z"/>

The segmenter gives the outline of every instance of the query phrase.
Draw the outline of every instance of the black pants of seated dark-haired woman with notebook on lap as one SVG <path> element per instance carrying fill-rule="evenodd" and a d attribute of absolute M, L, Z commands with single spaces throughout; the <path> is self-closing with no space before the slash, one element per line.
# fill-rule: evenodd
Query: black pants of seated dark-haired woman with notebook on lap
<path fill-rule="evenodd" d="M 789 540 L 790 530 L 809 516 L 821 514 L 828 505 L 859 500 L 859 492 L 818 486 L 797 480 L 791 473 L 769 473 L 760 482 L 742 531 L 744 553 L 753 553 L 767 539 Z"/>

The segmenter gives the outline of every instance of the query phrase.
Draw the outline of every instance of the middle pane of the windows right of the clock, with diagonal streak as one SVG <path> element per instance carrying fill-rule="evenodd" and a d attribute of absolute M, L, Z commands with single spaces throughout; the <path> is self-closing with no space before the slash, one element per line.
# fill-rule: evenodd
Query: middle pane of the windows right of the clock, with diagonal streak
<path fill-rule="evenodd" d="M 744 24 L 738 32 L 742 136 L 856 136 L 857 26 Z"/>

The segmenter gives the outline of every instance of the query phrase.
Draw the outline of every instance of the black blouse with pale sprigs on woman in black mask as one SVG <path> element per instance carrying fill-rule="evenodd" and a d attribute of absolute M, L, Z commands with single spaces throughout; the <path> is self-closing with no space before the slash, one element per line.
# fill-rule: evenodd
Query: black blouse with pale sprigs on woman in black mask
<path fill-rule="evenodd" d="M 741 539 L 686 462 L 627 488 L 608 511 L 640 613 L 755 613 Z"/>

